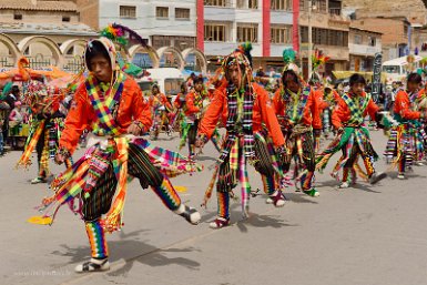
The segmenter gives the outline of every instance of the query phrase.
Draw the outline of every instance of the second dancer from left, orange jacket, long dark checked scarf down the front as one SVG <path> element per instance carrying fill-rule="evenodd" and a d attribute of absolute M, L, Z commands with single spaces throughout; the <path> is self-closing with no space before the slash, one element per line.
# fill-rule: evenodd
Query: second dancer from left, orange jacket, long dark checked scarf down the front
<path fill-rule="evenodd" d="M 230 199 L 234 195 L 232 191 L 238 182 L 242 187 L 242 212 L 247 216 L 251 193 L 247 163 L 263 175 L 264 186 L 273 204 L 278 207 L 285 203 L 275 182 L 279 173 L 275 153 L 273 147 L 267 147 L 266 142 L 271 135 L 278 147 L 277 151 L 282 153 L 284 138 L 267 92 L 253 82 L 247 55 L 241 49 L 224 59 L 222 67 L 226 82 L 215 91 L 214 99 L 200 123 L 196 141 L 199 147 L 203 147 L 211 139 L 220 120 L 226 122 L 227 130 L 222 154 L 204 200 L 205 204 L 216 181 L 217 217 L 210 224 L 212 228 L 230 224 Z M 266 125 L 267 131 L 263 130 L 262 124 Z"/>

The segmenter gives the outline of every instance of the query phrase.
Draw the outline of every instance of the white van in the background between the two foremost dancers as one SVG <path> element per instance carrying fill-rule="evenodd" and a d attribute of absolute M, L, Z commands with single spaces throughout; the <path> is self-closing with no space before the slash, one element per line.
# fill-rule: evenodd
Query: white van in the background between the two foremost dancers
<path fill-rule="evenodd" d="M 144 94 L 151 93 L 151 86 L 156 83 L 160 92 L 173 102 L 176 94 L 181 92 L 181 83 L 185 81 L 181 70 L 173 68 L 148 69 L 149 75 L 136 80 Z"/>

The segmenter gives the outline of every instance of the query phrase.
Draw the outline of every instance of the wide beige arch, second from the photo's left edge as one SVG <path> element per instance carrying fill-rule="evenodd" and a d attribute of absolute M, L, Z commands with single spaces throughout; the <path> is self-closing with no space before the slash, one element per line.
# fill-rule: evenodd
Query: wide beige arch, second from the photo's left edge
<path fill-rule="evenodd" d="M 47 37 L 27 37 L 19 42 L 18 49 L 29 59 L 32 69 L 49 65 L 62 68 L 62 52 L 57 43 Z"/>

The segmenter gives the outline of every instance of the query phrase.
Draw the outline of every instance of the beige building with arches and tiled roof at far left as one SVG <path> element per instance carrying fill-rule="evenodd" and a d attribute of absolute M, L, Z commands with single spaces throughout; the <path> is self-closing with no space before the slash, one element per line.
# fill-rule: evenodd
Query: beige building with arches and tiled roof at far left
<path fill-rule="evenodd" d="M 32 68 L 57 65 L 77 72 L 88 39 L 98 33 L 80 23 L 72 1 L 0 1 L 0 67 L 26 55 Z"/>

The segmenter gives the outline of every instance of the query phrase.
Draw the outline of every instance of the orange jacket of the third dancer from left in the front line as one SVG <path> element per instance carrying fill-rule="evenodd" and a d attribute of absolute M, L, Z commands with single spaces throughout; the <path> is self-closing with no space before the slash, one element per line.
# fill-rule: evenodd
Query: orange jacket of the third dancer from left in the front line
<path fill-rule="evenodd" d="M 313 129 L 322 129 L 318 102 L 315 99 L 314 93 L 315 92 L 312 90 L 308 95 L 302 121 L 305 125 L 312 125 Z M 282 99 L 281 90 L 277 90 L 274 94 L 273 105 L 277 115 L 285 115 L 286 102 Z"/>

